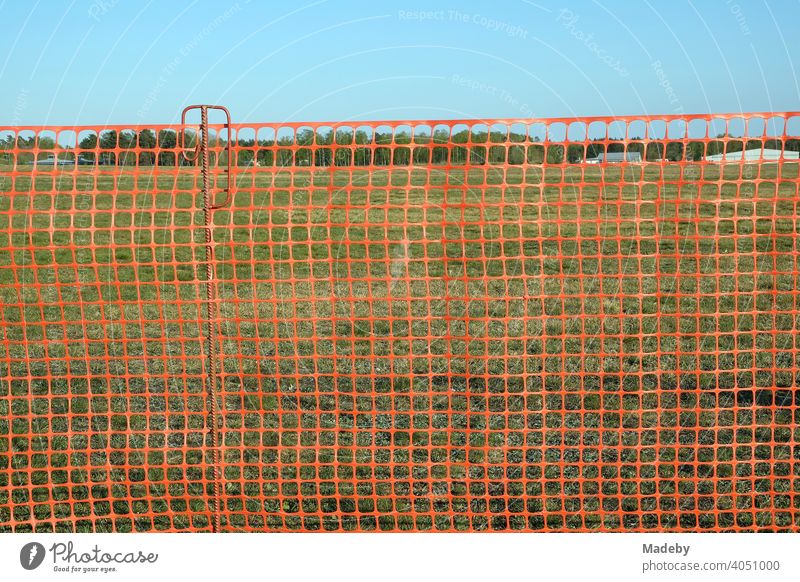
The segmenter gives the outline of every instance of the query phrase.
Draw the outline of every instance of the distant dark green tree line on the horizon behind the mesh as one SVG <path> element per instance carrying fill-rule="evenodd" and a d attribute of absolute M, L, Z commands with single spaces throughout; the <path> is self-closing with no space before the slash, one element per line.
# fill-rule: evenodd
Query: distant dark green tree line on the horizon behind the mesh
<path fill-rule="evenodd" d="M 186 132 L 184 147 L 194 147 L 197 135 Z M 225 139 L 211 135 L 209 142 L 215 148 L 214 158 L 219 164 L 227 164 Z M 52 150 L 59 157 L 74 156 L 86 161 L 95 160 L 100 165 L 123 166 L 190 166 L 177 149 L 178 134 L 175 130 L 151 129 L 138 132 L 125 130 L 102 131 L 81 139 L 77 148 L 59 146 L 47 136 L 19 136 L 16 141 L 8 135 L 0 140 L 0 163 L 13 162 L 8 150 Z M 704 156 L 744 149 L 774 148 L 800 151 L 800 140 L 726 138 L 724 135 L 705 141 L 688 140 L 661 141 L 593 139 L 587 143 L 547 143 L 539 138 L 528 138 L 516 132 L 470 131 L 452 133 L 434 130 L 432 133 L 412 135 L 408 132 L 370 133 L 364 130 L 328 130 L 315 132 L 303 129 L 295 135 L 279 136 L 277 139 L 238 139 L 235 144 L 237 166 L 407 166 L 407 165 L 483 165 L 483 164 L 560 164 L 581 163 L 600 154 L 628 152 L 638 153 L 646 161 L 701 160 Z M 138 150 L 137 150 L 138 148 Z M 2 153 L 6 150 L 6 153 Z M 127 151 L 130 150 L 130 151 Z M 49 153 L 49 152 L 48 152 Z M 41 151 L 40 151 L 41 154 Z M 32 154 L 19 152 L 20 162 L 33 161 Z"/>

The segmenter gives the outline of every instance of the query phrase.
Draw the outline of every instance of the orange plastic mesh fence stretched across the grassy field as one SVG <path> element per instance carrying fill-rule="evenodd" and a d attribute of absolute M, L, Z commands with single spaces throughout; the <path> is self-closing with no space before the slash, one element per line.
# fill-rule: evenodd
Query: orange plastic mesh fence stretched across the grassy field
<path fill-rule="evenodd" d="M 800 530 L 800 114 L 216 126 L 218 451 L 182 129 L 0 128 L 0 531 Z"/>

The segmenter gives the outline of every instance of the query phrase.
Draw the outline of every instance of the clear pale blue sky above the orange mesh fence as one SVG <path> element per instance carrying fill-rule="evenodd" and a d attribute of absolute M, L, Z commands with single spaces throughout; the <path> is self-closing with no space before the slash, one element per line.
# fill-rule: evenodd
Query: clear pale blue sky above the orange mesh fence
<path fill-rule="evenodd" d="M 800 1 L 0 2 L 0 125 L 800 109 Z M 793 60 L 794 59 L 794 60 Z"/>

